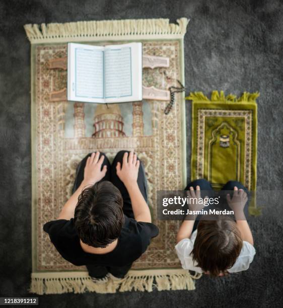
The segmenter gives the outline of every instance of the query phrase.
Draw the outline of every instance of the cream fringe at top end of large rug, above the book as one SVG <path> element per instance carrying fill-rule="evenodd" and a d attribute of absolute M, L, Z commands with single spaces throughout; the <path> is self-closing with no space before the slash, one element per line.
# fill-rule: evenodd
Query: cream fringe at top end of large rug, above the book
<path fill-rule="evenodd" d="M 189 20 L 177 19 L 169 24 L 169 19 L 125 19 L 80 21 L 71 23 L 27 24 L 24 25 L 28 39 L 34 43 L 120 40 L 139 38 L 183 37 Z"/>

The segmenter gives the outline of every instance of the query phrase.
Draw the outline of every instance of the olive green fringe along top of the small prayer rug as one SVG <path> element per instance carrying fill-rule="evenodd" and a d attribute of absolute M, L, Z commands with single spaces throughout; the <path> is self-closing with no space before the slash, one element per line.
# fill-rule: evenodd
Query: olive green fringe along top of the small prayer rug
<path fill-rule="evenodd" d="M 229 94 L 225 96 L 224 91 L 213 91 L 211 92 L 210 100 L 202 92 L 191 92 L 189 96 L 185 97 L 186 100 L 191 100 L 195 102 L 231 102 L 231 103 L 242 103 L 242 102 L 256 102 L 259 97 L 258 92 L 249 93 L 244 92 L 242 96 L 237 98 L 236 95 Z"/>

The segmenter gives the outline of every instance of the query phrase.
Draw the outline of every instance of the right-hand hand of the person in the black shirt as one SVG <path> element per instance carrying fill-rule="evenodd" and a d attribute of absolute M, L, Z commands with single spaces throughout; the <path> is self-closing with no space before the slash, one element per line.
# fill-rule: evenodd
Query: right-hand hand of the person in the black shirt
<path fill-rule="evenodd" d="M 128 152 L 125 152 L 123 156 L 122 168 L 120 162 L 117 163 L 117 176 L 125 186 L 136 183 L 138 168 L 139 161 L 137 160 L 136 154 L 134 154 L 133 151 L 131 151 L 129 154 Z"/>

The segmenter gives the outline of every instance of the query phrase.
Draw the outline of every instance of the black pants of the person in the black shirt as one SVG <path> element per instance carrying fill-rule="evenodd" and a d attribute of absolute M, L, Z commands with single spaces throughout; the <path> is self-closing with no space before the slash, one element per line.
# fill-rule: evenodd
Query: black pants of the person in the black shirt
<path fill-rule="evenodd" d="M 105 177 L 101 181 L 110 181 L 120 190 L 122 198 L 123 198 L 123 213 L 127 217 L 134 218 L 130 196 L 128 194 L 128 191 L 125 185 L 122 183 L 122 181 L 119 179 L 116 173 L 116 165 L 118 162 L 120 162 L 121 167 L 122 167 L 123 156 L 125 152 L 129 153 L 129 151 L 119 151 L 117 153 L 117 155 L 115 156 L 113 160 L 112 166 L 108 158 L 106 157 L 106 155 L 104 153 L 100 153 L 99 158 L 102 155 L 104 156 L 104 161 L 103 161 L 101 168 L 103 168 L 103 166 L 105 165 L 107 166 L 107 172 L 105 174 Z M 91 154 L 92 153 L 89 153 L 78 165 L 75 183 L 73 187 L 73 193 L 79 188 L 82 181 L 84 180 L 84 170 L 85 170 L 86 162 L 87 162 L 88 157 L 91 156 Z M 142 193 L 142 195 L 144 196 L 147 202 L 148 201 L 147 180 L 146 180 L 145 170 L 144 170 L 144 166 L 142 162 L 140 162 L 139 169 L 138 169 L 137 185 L 139 187 L 140 192 Z M 130 269 L 130 267 L 131 267 L 131 264 L 128 264 L 122 267 L 87 265 L 89 275 L 94 278 L 103 278 L 107 275 L 108 272 L 111 273 L 115 277 L 123 278 L 125 274 L 128 272 L 128 270 Z"/>

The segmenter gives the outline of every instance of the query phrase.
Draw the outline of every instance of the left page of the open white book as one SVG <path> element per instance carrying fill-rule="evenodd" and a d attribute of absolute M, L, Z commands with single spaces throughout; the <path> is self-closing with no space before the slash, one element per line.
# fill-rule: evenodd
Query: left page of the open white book
<path fill-rule="evenodd" d="M 104 47 L 68 44 L 68 100 L 104 103 Z"/>

